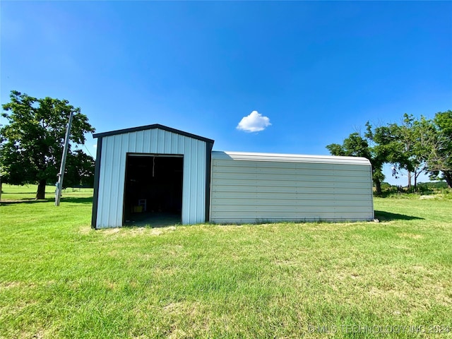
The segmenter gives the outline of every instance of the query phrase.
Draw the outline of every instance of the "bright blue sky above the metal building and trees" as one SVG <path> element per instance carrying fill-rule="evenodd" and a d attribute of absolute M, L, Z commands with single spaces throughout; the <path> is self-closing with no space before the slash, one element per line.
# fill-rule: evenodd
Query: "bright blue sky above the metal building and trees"
<path fill-rule="evenodd" d="M 11 90 L 67 99 L 97 132 L 157 123 L 213 138 L 215 150 L 327 155 L 368 120 L 452 109 L 450 1 L 1 1 L 0 10 L 1 103 Z M 93 155 L 94 144 L 88 136 Z"/>

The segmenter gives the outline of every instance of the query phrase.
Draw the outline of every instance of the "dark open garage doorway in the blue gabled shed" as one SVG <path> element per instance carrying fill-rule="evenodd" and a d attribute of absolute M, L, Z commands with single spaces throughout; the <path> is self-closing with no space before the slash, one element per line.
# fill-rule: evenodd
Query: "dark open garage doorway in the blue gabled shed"
<path fill-rule="evenodd" d="M 128 153 L 123 225 L 164 227 L 182 221 L 183 155 Z"/>

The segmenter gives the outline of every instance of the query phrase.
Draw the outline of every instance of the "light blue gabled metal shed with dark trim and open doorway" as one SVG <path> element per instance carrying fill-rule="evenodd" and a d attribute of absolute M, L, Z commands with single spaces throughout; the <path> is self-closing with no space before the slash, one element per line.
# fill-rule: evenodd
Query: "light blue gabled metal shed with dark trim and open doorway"
<path fill-rule="evenodd" d="M 213 140 L 159 124 L 94 138 L 93 228 L 128 225 L 143 212 L 172 213 L 184 224 L 209 220 Z"/>

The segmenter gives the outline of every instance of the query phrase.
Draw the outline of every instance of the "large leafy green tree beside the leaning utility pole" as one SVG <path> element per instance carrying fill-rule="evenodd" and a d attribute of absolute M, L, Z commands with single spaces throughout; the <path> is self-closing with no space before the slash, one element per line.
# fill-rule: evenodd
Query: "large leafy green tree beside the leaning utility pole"
<path fill-rule="evenodd" d="M 85 143 L 85 133 L 95 129 L 81 109 L 69 105 L 67 100 L 37 99 L 16 90 L 11 91 L 10 98 L 11 102 L 3 105 L 6 112 L 1 114 L 8 120 L 0 128 L 2 182 L 37 183 L 36 198 L 43 199 L 47 182 L 57 181 L 70 112 L 73 112 L 71 143 Z M 68 157 L 74 160 L 69 162 L 69 172 L 71 167 L 82 165 L 76 159 L 86 160 L 80 152 L 72 152 L 71 145 Z"/>

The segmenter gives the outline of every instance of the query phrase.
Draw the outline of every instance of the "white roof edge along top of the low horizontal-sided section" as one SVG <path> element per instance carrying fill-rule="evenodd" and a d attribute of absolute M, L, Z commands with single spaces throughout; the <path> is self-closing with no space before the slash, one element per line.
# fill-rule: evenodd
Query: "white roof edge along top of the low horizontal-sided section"
<path fill-rule="evenodd" d="M 230 152 L 212 151 L 212 159 L 230 160 L 255 160 L 275 162 L 319 162 L 349 165 L 371 165 L 365 157 L 340 157 L 336 155 L 302 155 L 302 154 L 280 154 L 280 153 L 252 153 L 252 152 Z"/>

